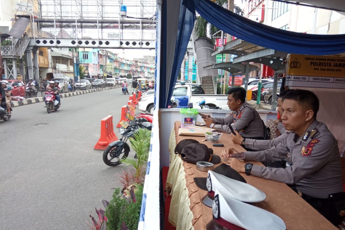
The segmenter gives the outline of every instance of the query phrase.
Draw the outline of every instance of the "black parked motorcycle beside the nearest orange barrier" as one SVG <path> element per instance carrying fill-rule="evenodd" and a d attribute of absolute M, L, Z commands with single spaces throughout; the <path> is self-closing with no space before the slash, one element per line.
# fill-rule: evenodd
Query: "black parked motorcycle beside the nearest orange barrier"
<path fill-rule="evenodd" d="M 122 137 L 120 140 L 111 142 L 103 152 L 103 162 L 107 166 L 118 166 L 121 164 L 119 161 L 120 159 L 126 159 L 128 157 L 130 149 L 127 141 L 134 136 L 134 133 L 138 131 L 139 128 L 151 130 L 152 123 L 148 122 L 145 118 L 139 118 L 134 124 L 130 124 L 126 129 L 121 128 L 119 134 L 122 135 Z"/>

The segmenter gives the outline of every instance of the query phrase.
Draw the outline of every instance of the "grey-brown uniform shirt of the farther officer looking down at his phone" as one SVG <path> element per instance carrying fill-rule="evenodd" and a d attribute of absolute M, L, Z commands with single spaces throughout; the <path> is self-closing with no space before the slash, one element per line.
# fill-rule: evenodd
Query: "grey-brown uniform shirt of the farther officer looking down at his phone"
<path fill-rule="evenodd" d="M 212 118 L 215 122 L 214 129 L 230 133 L 228 124 L 238 131 L 243 137 L 264 137 L 264 125 L 259 113 L 247 102 L 243 103 L 240 110 L 232 111 L 226 118 Z"/>

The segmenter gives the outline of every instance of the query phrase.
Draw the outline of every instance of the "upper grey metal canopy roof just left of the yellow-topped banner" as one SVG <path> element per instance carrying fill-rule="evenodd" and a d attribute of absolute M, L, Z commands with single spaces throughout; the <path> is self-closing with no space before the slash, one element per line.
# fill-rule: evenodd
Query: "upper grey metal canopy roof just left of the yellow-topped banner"
<path fill-rule="evenodd" d="M 235 54 L 237 57 L 233 59 L 233 63 L 241 62 L 256 62 L 269 66 L 274 71 L 285 69 L 283 60 L 286 58 L 287 53 L 268 49 L 262 46 L 257 46 L 253 43 L 236 39 L 227 42 L 225 46 L 217 48 L 212 52 L 212 56 L 216 54 Z M 283 60 L 281 60 L 283 58 Z"/>

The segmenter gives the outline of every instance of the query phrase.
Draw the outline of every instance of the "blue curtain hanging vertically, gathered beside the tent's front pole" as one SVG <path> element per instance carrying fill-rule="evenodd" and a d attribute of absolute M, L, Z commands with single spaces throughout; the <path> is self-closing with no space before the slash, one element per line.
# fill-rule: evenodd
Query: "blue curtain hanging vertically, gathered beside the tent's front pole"
<path fill-rule="evenodd" d="M 170 78 L 170 84 L 168 89 L 167 100 L 165 101 L 165 107 L 168 108 L 172 91 L 177 80 L 177 76 L 181 67 L 181 63 L 185 56 L 190 35 L 194 28 L 194 21 L 196 20 L 194 2 L 189 0 L 181 1 L 180 17 L 178 21 L 177 40 L 175 46 L 175 58 L 172 65 L 172 72 Z"/>

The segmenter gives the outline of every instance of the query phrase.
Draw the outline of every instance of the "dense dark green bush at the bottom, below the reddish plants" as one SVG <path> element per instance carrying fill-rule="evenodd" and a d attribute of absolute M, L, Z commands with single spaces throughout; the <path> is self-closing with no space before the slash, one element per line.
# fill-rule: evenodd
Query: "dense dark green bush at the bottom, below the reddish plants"
<path fill-rule="evenodd" d="M 130 188 L 130 197 L 121 195 L 117 188 L 106 209 L 108 230 L 138 229 L 143 186 L 134 184 Z"/>

